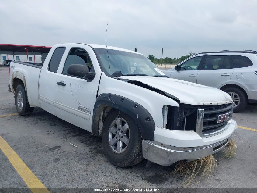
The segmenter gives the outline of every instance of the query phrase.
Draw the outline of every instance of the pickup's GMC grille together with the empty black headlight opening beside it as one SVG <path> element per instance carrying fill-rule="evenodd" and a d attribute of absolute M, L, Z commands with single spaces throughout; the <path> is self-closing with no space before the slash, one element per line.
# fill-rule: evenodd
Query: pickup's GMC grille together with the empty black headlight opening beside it
<path fill-rule="evenodd" d="M 170 130 L 195 131 L 201 138 L 219 134 L 231 123 L 233 103 L 224 105 L 195 106 L 180 104 L 179 107 L 167 106 L 164 128 Z M 164 107 L 165 107 L 164 106 Z M 223 119 L 221 119 L 223 118 Z"/>

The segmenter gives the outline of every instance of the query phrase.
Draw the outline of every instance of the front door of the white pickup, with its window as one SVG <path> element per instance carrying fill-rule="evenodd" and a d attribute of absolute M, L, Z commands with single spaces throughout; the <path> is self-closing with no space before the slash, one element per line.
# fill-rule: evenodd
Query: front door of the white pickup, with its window
<path fill-rule="evenodd" d="M 64 65 L 58 68 L 54 90 L 56 116 L 88 131 L 91 131 L 92 113 L 101 73 L 96 73 L 94 78 L 87 80 L 69 75 L 67 69 L 71 64 L 80 64 L 87 66 L 89 72 L 95 72 L 90 56 L 97 64 L 94 52 L 89 46 L 70 48 Z"/>

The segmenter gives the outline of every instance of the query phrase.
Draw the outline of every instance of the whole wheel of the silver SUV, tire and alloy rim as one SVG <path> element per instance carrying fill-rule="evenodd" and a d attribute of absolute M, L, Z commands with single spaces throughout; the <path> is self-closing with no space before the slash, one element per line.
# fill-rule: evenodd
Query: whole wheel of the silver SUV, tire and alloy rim
<path fill-rule="evenodd" d="M 233 99 L 233 102 L 234 102 L 233 112 L 236 113 L 238 111 L 241 111 L 242 109 L 245 109 L 247 105 L 247 97 L 241 89 L 236 87 L 231 87 L 231 88 L 225 88 L 224 91 L 227 92 Z"/>

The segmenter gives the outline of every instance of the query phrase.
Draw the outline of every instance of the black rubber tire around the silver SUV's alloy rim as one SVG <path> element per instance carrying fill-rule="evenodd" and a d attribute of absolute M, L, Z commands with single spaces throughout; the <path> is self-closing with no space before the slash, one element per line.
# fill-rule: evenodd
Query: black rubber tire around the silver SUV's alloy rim
<path fill-rule="evenodd" d="M 229 94 L 231 92 L 233 92 L 240 99 L 240 102 L 238 103 L 238 105 L 236 107 L 234 107 L 234 110 L 233 110 L 234 113 L 237 113 L 237 112 L 245 109 L 245 107 L 247 106 L 247 103 L 248 103 L 248 98 L 245 95 L 244 91 L 242 91 L 240 88 L 237 88 L 237 87 L 225 88 L 223 91 L 227 92 Z M 237 102 L 235 101 L 235 103 L 237 103 Z"/>

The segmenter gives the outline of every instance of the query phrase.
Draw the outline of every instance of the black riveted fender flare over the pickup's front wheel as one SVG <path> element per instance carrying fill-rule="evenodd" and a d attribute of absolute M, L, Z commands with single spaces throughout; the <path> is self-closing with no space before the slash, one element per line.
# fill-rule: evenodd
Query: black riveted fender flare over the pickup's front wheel
<path fill-rule="evenodd" d="M 155 123 L 151 114 L 142 105 L 120 95 L 109 93 L 100 94 L 96 98 L 92 118 L 93 134 L 98 133 L 98 129 L 96 131 L 94 128 L 98 128 L 99 113 L 106 106 L 111 106 L 131 116 L 139 127 L 142 139 L 154 141 Z"/>

